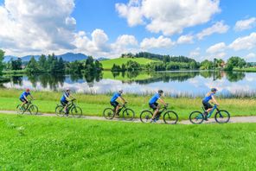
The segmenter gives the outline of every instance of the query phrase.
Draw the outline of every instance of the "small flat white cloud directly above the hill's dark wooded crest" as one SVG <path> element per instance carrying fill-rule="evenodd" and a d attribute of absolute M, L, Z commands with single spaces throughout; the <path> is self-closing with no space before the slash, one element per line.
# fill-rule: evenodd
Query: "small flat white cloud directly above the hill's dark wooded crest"
<path fill-rule="evenodd" d="M 160 35 L 158 38 L 144 38 L 144 40 L 140 43 L 140 47 L 144 49 L 170 48 L 173 45 L 175 45 L 175 42 L 171 41 L 170 38 L 163 37 L 163 35 Z"/>

